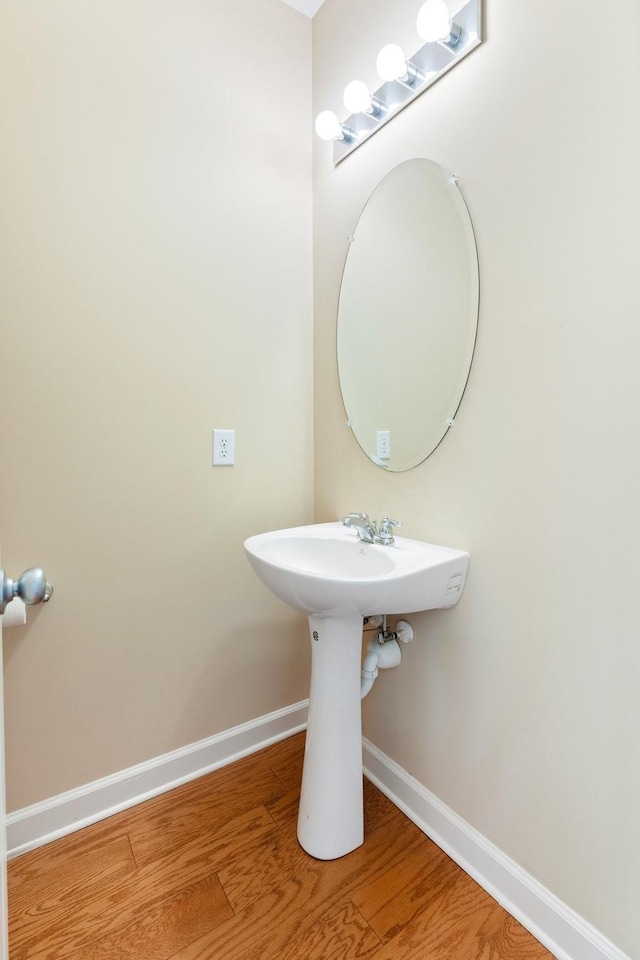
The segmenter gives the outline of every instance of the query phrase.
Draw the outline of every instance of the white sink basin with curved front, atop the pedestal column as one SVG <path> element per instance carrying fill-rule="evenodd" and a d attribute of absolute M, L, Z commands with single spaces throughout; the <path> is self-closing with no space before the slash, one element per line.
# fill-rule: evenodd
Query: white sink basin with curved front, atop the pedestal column
<path fill-rule="evenodd" d="M 469 554 L 396 537 L 363 543 L 341 523 L 249 537 L 244 548 L 269 589 L 296 610 L 325 617 L 412 613 L 458 602 Z"/>

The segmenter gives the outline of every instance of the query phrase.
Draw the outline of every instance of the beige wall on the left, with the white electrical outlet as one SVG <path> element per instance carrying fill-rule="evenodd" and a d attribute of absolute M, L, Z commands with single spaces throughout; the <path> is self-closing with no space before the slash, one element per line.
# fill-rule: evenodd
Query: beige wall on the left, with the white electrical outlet
<path fill-rule="evenodd" d="M 1 36 L 0 536 L 56 591 L 5 632 L 15 809 L 307 695 L 242 541 L 311 518 L 311 23 L 8 0 Z"/>

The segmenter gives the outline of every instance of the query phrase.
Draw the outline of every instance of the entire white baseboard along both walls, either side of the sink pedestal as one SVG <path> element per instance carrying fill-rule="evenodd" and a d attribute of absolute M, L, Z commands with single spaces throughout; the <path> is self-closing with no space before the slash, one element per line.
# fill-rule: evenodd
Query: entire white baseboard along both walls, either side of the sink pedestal
<path fill-rule="evenodd" d="M 308 700 L 7 817 L 9 858 L 165 793 L 304 729 Z M 558 960 L 630 960 L 402 767 L 363 740 L 366 776 Z"/>

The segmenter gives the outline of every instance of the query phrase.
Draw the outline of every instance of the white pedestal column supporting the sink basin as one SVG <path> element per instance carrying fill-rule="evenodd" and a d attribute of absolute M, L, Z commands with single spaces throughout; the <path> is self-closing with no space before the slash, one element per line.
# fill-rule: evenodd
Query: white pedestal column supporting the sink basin
<path fill-rule="evenodd" d="M 298 840 L 319 860 L 342 857 L 364 841 L 362 627 L 360 616 L 309 617 L 311 692 Z"/>

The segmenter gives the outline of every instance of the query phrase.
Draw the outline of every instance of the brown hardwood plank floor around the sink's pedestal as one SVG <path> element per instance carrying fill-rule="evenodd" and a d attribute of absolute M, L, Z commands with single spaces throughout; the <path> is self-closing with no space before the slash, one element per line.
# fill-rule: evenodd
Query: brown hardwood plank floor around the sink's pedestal
<path fill-rule="evenodd" d="M 304 734 L 9 864 L 11 960 L 551 960 L 375 787 L 340 860 L 296 840 Z"/>

